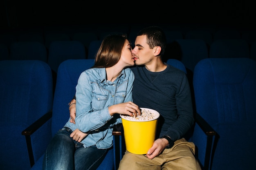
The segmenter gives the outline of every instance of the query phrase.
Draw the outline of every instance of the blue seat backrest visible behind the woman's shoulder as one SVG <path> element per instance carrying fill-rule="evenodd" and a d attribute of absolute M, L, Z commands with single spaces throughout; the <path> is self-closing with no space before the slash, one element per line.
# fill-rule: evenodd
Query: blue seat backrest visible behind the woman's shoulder
<path fill-rule="evenodd" d="M 76 93 L 80 74 L 94 65 L 94 59 L 65 60 L 58 68 L 52 109 L 52 135 L 62 128 L 70 117 L 68 103 Z"/>

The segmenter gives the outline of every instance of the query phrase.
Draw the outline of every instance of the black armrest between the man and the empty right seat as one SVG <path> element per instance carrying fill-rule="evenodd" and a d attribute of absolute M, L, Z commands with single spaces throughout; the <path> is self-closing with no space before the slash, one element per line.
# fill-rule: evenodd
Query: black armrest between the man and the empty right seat
<path fill-rule="evenodd" d="M 202 131 L 207 135 L 207 144 L 205 150 L 205 157 L 204 157 L 204 165 L 202 168 L 204 170 L 208 170 L 211 161 L 211 151 L 212 151 L 212 143 L 213 143 L 213 136 L 216 136 L 216 131 L 205 121 L 198 113 L 195 114 L 195 123 L 202 129 Z"/>

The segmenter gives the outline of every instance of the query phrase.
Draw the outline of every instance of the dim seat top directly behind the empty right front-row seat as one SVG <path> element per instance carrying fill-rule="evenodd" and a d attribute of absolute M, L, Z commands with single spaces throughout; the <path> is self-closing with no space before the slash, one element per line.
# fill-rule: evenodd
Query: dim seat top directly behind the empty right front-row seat
<path fill-rule="evenodd" d="M 211 44 L 209 51 L 209 58 L 249 58 L 249 56 L 249 44 L 243 39 L 216 40 Z"/>

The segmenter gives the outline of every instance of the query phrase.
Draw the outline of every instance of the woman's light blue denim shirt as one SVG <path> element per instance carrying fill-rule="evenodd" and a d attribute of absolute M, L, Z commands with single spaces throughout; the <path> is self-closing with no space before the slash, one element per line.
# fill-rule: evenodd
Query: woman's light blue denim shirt
<path fill-rule="evenodd" d="M 134 74 L 130 68 L 110 82 L 106 79 L 106 68 L 90 68 L 81 73 L 76 85 L 76 124 L 65 127 L 89 133 L 81 143 L 85 148 L 96 145 L 106 149 L 113 145 L 112 130 L 121 123 L 119 114 L 110 116 L 108 107 L 132 101 Z"/>

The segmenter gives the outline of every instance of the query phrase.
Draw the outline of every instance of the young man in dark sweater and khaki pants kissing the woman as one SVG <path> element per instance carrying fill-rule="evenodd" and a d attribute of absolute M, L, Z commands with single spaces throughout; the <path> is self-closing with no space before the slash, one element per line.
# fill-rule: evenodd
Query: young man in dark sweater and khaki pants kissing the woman
<path fill-rule="evenodd" d="M 132 54 L 135 75 L 133 102 L 160 113 L 157 135 L 146 155 L 128 152 L 118 170 L 201 170 L 195 159 L 195 145 L 182 138 L 193 126 L 193 106 L 186 74 L 162 61 L 166 37 L 162 29 L 150 26 L 137 34 Z M 74 120 L 75 108 L 70 110 Z M 136 144 L 135 144 L 136 145 Z"/>

